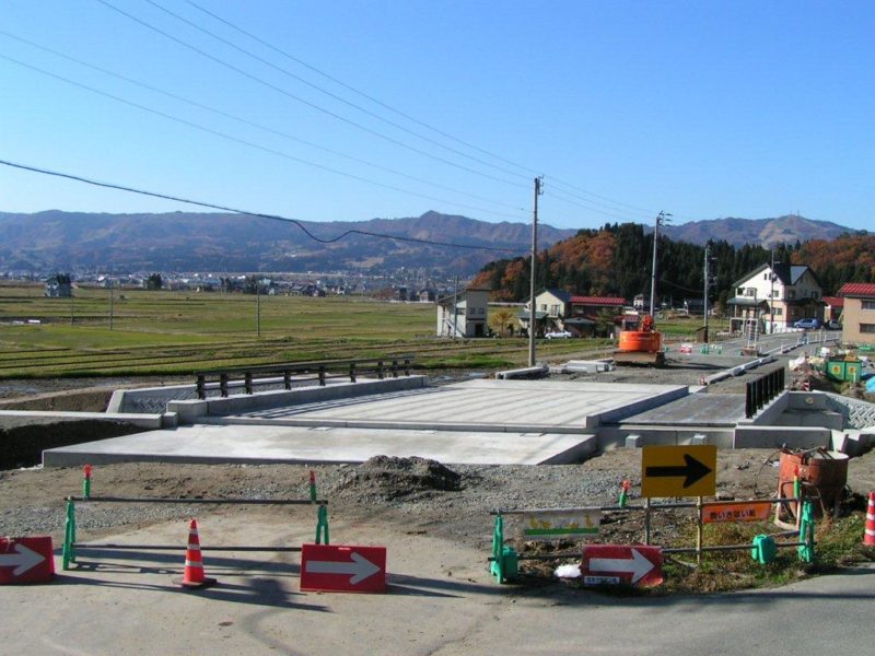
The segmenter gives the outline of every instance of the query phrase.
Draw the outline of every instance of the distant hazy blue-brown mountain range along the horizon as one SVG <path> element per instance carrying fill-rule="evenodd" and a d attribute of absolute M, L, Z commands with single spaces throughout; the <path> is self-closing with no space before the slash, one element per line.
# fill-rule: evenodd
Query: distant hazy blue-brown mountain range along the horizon
<path fill-rule="evenodd" d="M 795 215 L 696 221 L 667 225 L 663 231 L 673 239 L 697 244 L 712 238 L 734 245 L 766 246 L 796 239 L 831 239 L 852 232 L 835 223 Z M 538 246 L 548 247 L 576 232 L 539 223 Z M 335 241 L 343 234 L 346 236 Z M 530 224 L 487 223 L 434 211 L 406 219 L 301 221 L 296 224 L 222 213 L 0 212 L 0 271 L 43 274 L 83 269 L 125 272 L 354 270 L 376 273 L 405 267 L 468 276 L 489 261 L 525 254 L 530 239 Z M 509 250 L 476 250 L 462 246 Z"/>

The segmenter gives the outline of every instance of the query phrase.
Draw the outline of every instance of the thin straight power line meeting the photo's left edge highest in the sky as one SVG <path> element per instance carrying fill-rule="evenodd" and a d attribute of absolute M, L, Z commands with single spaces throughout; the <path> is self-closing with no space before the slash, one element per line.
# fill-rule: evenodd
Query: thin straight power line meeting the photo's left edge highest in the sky
<path fill-rule="evenodd" d="M 167 97 L 173 98 L 175 101 L 178 101 L 180 103 L 186 103 L 188 105 L 191 105 L 192 107 L 198 107 L 199 109 L 205 109 L 207 112 L 211 112 L 211 113 L 213 113 L 213 114 L 215 114 L 218 116 L 230 118 L 232 120 L 235 120 L 235 121 L 242 122 L 244 125 L 257 128 L 259 130 L 264 130 L 264 131 L 269 132 L 271 134 L 276 134 L 278 137 L 282 137 L 284 139 L 289 139 L 291 141 L 295 141 L 298 143 L 303 143 L 304 145 L 307 145 L 310 148 L 315 148 L 315 149 L 320 150 L 323 152 L 327 152 L 327 153 L 332 154 L 332 155 L 345 157 L 347 160 L 350 160 L 352 162 L 357 162 L 359 164 L 364 164 L 366 166 L 372 166 L 374 168 L 377 168 L 380 171 L 384 171 L 386 173 L 390 173 L 393 175 L 397 175 L 397 176 L 400 176 L 400 177 L 406 177 L 406 178 L 411 179 L 411 180 L 417 181 L 417 183 L 421 183 L 421 184 L 424 184 L 424 185 L 430 185 L 432 187 L 435 187 L 435 188 L 439 188 L 439 189 L 443 189 L 445 191 L 451 191 L 453 194 L 458 194 L 460 196 L 467 196 L 469 198 L 475 198 L 477 200 L 481 200 L 483 202 L 492 203 L 492 204 L 495 204 L 495 206 L 503 206 L 503 207 L 512 209 L 512 210 L 524 211 L 522 208 L 518 208 L 518 207 L 516 207 L 516 206 L 514 206 L 512 203 L 508 203 L 508 202 L 503 202 L 503 201 L 499 201 L 499 200 L 492 200 L 492 199 L 489 199 L 489 198 L 485 198 L 482 196 L 477 196 L 476 194 L 462 191 L 460 189 L 455 189 L 453 187 L 447 187 L 445 185 L 433 183 L 431 180 L 427 180 L 424 178 L 420 178 L 420 177 L 417 177 L 415 175 L 410 175 L 408 173 L 404 173 L 401 171 L 396 171 L 394 168 L 389 168 L 388 166 L 383 166 L 382 164 L 377 164 L 375 162 L 370 162 L 368 160 L 364 160 L 364 159 L 361 159 L 361 157 L 357 157 L 354 155 L 350 155 L 350 154 L 347 154 L 347 153 L 343 153 L 343 152 L 340 152 L 340 151 L 337 151 L 337 150 L 334 150 L 334 149 L 330 149 L 330 148 L 326 148 L 326 147 L 319 145 L 317 143 L 314 143 L 312 141 L 307 141 L 305 139 L 300 139 L 299 137 L 294 137 L 292 134 L 289 134 L 288 132 L 283 132 L 281 130 L 277 130 L 275 128 L 270 128 L 268 126 L 264 126 L 261 124 L 248 120 L 246 118 L 242 118 L 242 117 L 236 116 L 234 114 L 230 114 L 230 113 L 224 112 L 222 109 L 217 109 L 215 107 L 211 107 L 209 105 L 205 105 L 203 103 L 199 103 L 197 101 L 192 101 L 191 98 L 187 98 L 185 96 L 180 96 L 180 95 L 172 93 L 170 91 L 165 91 L 163 89 L 159 89 L 159 87 L 153 86 L 151 84 L 147 84 L 144 82 L 140 82 L 140 81 L 135 80 L 132 78 L 128 78 L 127 75 L 122 75 L 121 73 L 117 73 L 115 71 L 110 71 L 110 70 L 105 69 L 103 67 L 100 67 L 100 66 L 96 66 L 96 65 L 93 65 L 93 63 L 89 63 L 88 61 L 83 61 L 81 59 L 77 59 L 75 57 L 71 57 L 70 55 L 65 55 L 63 52 L 59 52 L 59 51 L 54 50 L 51 48 L 48 48 L 46 46 L 42 46 L 42 45 L 36 44 L 36 43 L 34 43 L 32 40 L 28 40 L 26 38 L 22 38 L 20 36 L 15 36 L 14 34 L 10 34 L 9 32 L 5 32 L 3 30 L 0 30 L 0 35 L 5 36 L 7 38 L 11 38 L 11 39 L 14 39 L 16 42 L 26 44 L 27 46 L 31 46 L 32 48 L 36 48 L 38 50 L 43 50 L 44 52 L 49 52 L 49 54 L 54 55 L 55 57 L 60 57 L 61 59 L 66 59 L 68 61 L 72 61 L 72 62 L 74 62 L 74 63 L 77 63 L 79 66 L 82 66 L 82 67 L 95 70 L 95 71 L 98 71 L 101 73 L 104 73 L 106 75 L 110 75 L 110 77 L 116 78 L 118 80 L 122 80 L 122 81 L 125 81 L 125 82 L 127 82 L 129 84 L 133 84 L 136 86 L 152 91 L 154 93 L 160 93 L 160 94 L 162 94 L 164 96 L 167 96 Z"/>

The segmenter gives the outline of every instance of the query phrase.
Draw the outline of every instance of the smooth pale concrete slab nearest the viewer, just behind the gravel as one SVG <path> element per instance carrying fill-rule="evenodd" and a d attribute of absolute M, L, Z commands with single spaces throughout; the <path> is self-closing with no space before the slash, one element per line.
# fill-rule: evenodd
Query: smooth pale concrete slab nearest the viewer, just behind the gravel
<path fill-rule="evenodd" d="M 43 452 L 52 466 L 162 462 L 363 462 L 376 455 L 444 464 L 575 462 L 595 452 L 593 435 L 458 433 L 288 426 L 180 426 Z"/>

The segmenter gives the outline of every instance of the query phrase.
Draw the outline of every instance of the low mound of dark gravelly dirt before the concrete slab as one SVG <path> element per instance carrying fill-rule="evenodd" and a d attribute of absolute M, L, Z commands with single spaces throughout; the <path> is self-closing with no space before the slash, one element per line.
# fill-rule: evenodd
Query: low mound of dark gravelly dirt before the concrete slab
<path fill-rule="evenodd" d="M 436 460 L 375 456 L 346 471 L 331 494 L 360 501 L 393 501 L 460 487 L 462 476 Z"/>

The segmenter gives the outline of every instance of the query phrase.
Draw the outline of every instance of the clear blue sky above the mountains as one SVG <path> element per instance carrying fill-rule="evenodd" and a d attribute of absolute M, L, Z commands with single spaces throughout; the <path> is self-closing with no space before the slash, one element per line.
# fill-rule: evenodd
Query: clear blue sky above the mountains
<path fill-rule="evenodd" d="M 544 174 L 560 227 L 875 225 L 875 2 L 106 2 L 201 52 L 0 0 L 0 160 L 312 221 L 528 222 Z M 0 211 L 45 209 L 191 208 L 0 166 Z"/>

